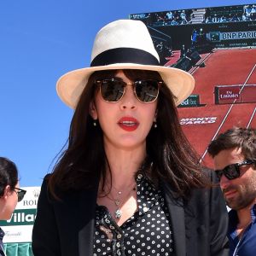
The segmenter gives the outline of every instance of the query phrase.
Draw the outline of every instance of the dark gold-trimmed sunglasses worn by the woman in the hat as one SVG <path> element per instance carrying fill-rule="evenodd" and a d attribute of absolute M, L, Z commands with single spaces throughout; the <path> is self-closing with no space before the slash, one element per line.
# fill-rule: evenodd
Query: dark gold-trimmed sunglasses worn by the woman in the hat
<path fill-rule="evenodd" d="M 139 102 L 154 102 L 159 95 L 160 84 L 162 81 L 153 79 L 136 80 L 132 84 L 126 84 L 120 79 L 101 79 L 96 80 L 95 84 L 100 86 L 102 99 L 105 102 L 119 102 L 125 95 L 126 85 L 133 85 L 133 92 Z"/>

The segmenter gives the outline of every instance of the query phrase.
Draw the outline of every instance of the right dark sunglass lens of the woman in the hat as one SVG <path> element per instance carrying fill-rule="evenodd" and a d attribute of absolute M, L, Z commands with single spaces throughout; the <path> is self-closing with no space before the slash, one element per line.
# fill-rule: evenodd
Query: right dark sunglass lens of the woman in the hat
<path fill-rule="evenodd" d="M 141 102 L 154 102 L 158 96 L 159 85 L 155 80 L 136 81 L 135 91 Z"/>

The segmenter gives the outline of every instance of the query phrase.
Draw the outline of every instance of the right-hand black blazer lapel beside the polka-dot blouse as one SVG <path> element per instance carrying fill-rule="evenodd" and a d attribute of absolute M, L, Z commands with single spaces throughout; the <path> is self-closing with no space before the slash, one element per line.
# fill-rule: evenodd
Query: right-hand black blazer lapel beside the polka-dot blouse
<path fill-rule="evenodd" d="M 175 255 L 186 256 L 186 230 L 183 200 L 174 197 L 170 185 L 166 183 L 163 183 L 162 185 L 165 191 L 166 204 L 170 212 Z"/>

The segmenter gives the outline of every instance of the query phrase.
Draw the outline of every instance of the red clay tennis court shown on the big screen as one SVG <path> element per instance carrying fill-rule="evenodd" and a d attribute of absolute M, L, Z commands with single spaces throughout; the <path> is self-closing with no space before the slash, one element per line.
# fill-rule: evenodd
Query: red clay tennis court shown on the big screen
<path fill-rule="evenodd" d="M 173 59 L 179 53 L 174 53 Z M 212 167 L 207 145 L 218 133 L 236 126 L 256 127 L 256 49 L 214 49 L 201 55 L 206 67 L 190 69 L 195 78 L 193 95 L 200 104 L 178 108 L 183 131 Z M 197 102 L 198 103 L 198 102 Z"/>

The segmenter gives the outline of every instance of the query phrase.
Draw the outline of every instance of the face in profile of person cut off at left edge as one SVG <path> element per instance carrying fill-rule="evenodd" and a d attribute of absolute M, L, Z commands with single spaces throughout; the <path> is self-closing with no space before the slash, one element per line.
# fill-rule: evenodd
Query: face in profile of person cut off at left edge
<path fill-rule="evenodd" d="M 16 184 L 15 188 L 20 188 L 19 183 Z M 17 202 L 17 191 L 12 191 L 9 185 L 6 186 L 4 195 L 0 198 L 0 219 L 7 220 L 11 218 L 12 213 L 15 211 Z"/>

